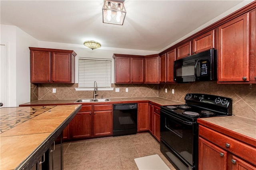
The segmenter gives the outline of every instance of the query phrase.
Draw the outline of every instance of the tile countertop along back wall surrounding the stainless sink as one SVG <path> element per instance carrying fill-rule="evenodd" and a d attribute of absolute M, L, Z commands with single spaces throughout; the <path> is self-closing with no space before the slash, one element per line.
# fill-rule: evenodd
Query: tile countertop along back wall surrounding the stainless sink
<path fill-rule="evenodd" d="M 36 100 L 34 102 L 28 102 L 25 104 L 21 104 L 20 106 L 44 106 L 47 104 L 74 104 L 76 99 L 70 100 Z M 110 102 L 88 102 L 88 103 L 75 103 L 75 104 L 82 104 L 82 105 L 92 105 L 92 104 L 118 104 L 118 103 L 143 103 L 149 102 L 157 106 L 168 106 L 168 105 L 177 105 L 177 104 L 184 104 L 183 102 L 177 102 L 174 100 L 169 100 L 165 98 L 159 97 L 152 97 L 152 98 L 110 98 Z"/>

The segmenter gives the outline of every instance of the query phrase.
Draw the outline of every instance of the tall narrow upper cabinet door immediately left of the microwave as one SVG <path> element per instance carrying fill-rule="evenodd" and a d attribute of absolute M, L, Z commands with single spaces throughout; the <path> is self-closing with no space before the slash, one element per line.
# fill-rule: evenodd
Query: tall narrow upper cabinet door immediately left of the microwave
<path fill-rule="evenodd" d="M 166 53 L 166 82 L 174 82 L 174 61 L 176 60 L 176 48 Z"/>

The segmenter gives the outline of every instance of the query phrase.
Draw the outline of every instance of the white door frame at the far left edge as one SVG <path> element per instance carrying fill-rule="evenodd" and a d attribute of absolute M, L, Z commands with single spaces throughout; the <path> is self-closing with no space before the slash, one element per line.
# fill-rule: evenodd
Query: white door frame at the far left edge
<path fill-rule="evenodd" d="M 4 106 L 3 107 L 9 107 L 9 75 L 10 75 L 10 70 L 9 70 L 9 63 L 10 63 L 10 60 L 9 60 L 9 43 L 8 42 L 0 42 L 0 45 L 3 45 L 5 47 L 5 57 L 6 57 L 6 60 L 4 60 L 4 64 L 5 64 L 5 76 L 4 76 L 4 80 L 1 80 L 1 81 L 4 81 L 4 86 L 5 86 L 5 90 L 4 90 L 4 96 L 5 96 L 5 101 L 4 102 Z M 2 93 L 2 92 L 1 92 Z"/>

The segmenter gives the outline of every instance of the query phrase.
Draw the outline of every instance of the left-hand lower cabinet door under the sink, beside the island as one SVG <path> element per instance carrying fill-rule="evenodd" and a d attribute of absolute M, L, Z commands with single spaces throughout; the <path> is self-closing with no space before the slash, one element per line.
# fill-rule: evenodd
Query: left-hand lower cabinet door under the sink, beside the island
<path fill-rule="evenodd" d="M 72 119 L 72 139 L 92 136 L 92 112 L 78 112 Z"/>

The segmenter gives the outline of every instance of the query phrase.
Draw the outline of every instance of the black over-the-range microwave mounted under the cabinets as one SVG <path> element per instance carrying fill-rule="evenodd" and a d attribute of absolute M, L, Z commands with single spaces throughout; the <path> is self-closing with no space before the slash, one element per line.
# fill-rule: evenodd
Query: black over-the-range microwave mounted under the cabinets
<path fill-rule="evenodd" d="M 174 61 L 174 81 L 177 83 L 216 80 L 216 74 L 216 49 Z"/>

